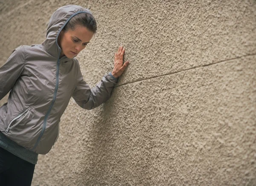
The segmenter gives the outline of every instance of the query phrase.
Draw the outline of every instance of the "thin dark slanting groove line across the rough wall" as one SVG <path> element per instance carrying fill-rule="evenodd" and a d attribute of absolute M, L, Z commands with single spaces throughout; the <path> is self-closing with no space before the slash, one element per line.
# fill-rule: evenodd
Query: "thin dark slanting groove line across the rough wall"
<path fill-rule="evenodd" d="M 169 76 L 169 75 L 172 75 L 172 74 L 176 74 L 176 73 L 180 73 L 180 72 L 185 72 L 185 71 L 192 70 L 192 69 L 201 68 L 201 67 L 207 67 L 207 66 L 210 66 L 210 65 L 219 64 L 219 63 L 222 63 L 222 62 L 231 61 L 231 60 L 235 60 L 235 59 L 239 59 L 239 58 L 244 58 L 244 57 L 247 57 L 247 56 L 253 56 L 253 55 L 256 55 L 256 53 L 255 54 L 242 55 L 242 56 L 237 57 L 237 58 L 231 58 L 231 59 L 227 59 L 227 60 L 222 60 L 222 61 L 218 61 L 216 63 L 203 64 L 203 65 L 200 65 L 200 66 L 191 67 L 189 69 L 180 70 L 180 71 L 177 71 L 177 72 L 174 72 L 174 73 L 167 73 L 167 74 L 163 74 L 163 75 L 160 75 L 160 76 L 152 76 L 150 78 L 145 78 L 145 79 L 141 79 L 141 80 L 138 80 L 138 81 L 130 81 L 130 82 L 127 82 L 127 83 L 124 83 L 124 84 L 117 85 L 115 87 L 121 87 L 121 86 L 126 85 L 126 84 L 132 84 L 132 83 L 136 83 L 136 82 L 140 82 L 140 81 L 146 81 L 146 80 L 149 80 L 149 79 L 158 78 L 158 77 L 162 77 L 162 76 Z"/>

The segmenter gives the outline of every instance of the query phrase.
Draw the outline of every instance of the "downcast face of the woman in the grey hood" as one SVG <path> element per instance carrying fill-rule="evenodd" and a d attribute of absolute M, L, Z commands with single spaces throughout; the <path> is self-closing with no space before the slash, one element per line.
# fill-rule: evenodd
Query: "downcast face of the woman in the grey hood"
<path fill-rule="evenodd" d="M 74 58 L 83 50 L 93 37 L 93 32 L 84 26 L 76 26 L 74 30 L 61 31 L 58 36 L 58 45 L 61 47 L 61 56 Z"/>

